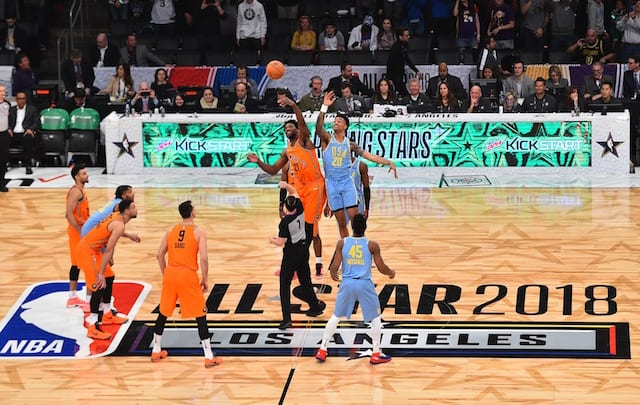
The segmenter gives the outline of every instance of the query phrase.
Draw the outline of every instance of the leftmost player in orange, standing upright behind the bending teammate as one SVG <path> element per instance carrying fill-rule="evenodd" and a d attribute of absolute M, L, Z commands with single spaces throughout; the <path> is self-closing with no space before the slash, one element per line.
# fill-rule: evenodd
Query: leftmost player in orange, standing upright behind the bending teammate
<path fill-rule="evenodd" d="M 69 268 L 69 298 L 67 308 L 80 307 L 89 312 L 89 288 L 87 288 L 87 301 L 77 296 L 78 276 L 80 269 L 75 257 L 75 249 L 80 242 L 82 225 L 89 218 L 89 197 L 84 190 L 84 185 L 89 182 L 89 173 L 84 165 L 75 165 L 71 169 L 73 186 L 67 191 L 67 235 L 69 236 L 69 256 L 71 268 Z"/>

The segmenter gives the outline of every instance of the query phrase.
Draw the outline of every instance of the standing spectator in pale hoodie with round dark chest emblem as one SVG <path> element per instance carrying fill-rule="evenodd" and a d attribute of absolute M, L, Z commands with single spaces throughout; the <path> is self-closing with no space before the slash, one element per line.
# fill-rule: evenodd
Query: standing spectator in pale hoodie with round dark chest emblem
<path fill-rule="evenodd" d="M 262 49 L 267 35 L 267 16 L 262 4 L 244 0 L 238 4 L 236 45 L 238 48 Z"/>

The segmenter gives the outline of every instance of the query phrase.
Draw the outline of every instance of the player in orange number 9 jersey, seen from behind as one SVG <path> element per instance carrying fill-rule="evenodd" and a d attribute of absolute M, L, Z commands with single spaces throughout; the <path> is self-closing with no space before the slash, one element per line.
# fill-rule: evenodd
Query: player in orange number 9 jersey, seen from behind
<path fill-rule="evenodd" d="M 182 217 L 182 223 L 174 225 L 167 231 L 156 254 L 162 273 L 162 293 L 160 312 L 153 334 L 151 361 L 157 362 L 167 357 L 167 351 L 162 350 L 160 344 L 162 332 L 164 332 L 167 318 L 176 308 L 176 302 L 180 300 L 182 318 L 196 318 L 198 335 L 204 350 L 204 366 L 209 368 L 222 363 L 222 359 L 216 357 L 211 351 L 207 306 L 202 294 L 209 289 L 207 232 L 204 228 L 196 226 L 194 222 L 196 212 L 191 201 L 181 203 L 178 211 Z M 200 280 L 198 280 L 198 256 L 202 273 Z"/>

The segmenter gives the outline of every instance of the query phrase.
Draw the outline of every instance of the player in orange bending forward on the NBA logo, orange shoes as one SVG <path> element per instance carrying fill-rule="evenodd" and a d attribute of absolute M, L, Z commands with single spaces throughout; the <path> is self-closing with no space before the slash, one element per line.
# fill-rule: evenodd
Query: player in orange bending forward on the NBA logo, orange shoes
<path fill-rule="evenodd" d="M 104 311 L 103 295 L 108 287 L 107 279 L 114 277 L 109 263 L 113 262 L 113 251 L 121 236 L 125 235 L 125 224 L 138 216 L 136 204 L 122 200 L 118 212 L 114 212 L 93 228 L 76 246 L 78 267 L 83 271 L 87 291 L 91 291 L 91 315 L 87 317 L 87 336 L 93 339 L 111 339 L 101 324 L 121 324 L 126 318 Z"/>

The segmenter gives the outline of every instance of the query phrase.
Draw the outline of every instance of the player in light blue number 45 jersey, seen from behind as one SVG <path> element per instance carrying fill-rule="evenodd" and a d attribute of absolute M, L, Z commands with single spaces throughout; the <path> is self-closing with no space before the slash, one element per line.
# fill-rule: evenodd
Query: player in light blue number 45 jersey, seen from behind
<path fill-rule="evenodd" d="M 362 214 L 356 214 L 351 221 L 353 236 L 347 236 L 338 241 L 334 258 L 329 265 L 329 272 L 334 281 L 340 281 L 338 269 L 342 264 L 342 281 L 336 297 L 336 307 L 327 326 L 320 348 L 316 352 L 318 361 L 327 358 L 327 345 L 333 337 L 340 322 L 340 318 L 350 319 L 356 301 L 360 303 L 365 322 L 371 323 L 371 340 L 373 351 L 369 362 L 380 364 L 391 361 L 388 356 L 380 351 L 380 338 L 382 336 L 382 319 L 380 318 L 380 301 L 371 280 L 371 264 L 375 262 L 378 271 L 394 278 L 396 272 L 386 265 L 380 254 L 380 245 L 364 236 L 367 229 L 367 219 Z"/>

